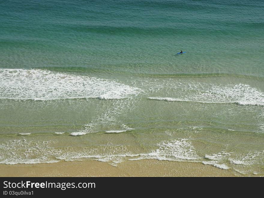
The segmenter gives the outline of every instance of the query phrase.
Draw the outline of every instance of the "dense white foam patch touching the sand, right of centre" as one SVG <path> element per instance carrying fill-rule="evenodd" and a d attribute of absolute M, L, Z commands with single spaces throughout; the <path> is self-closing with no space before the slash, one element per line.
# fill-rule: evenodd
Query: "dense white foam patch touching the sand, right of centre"
<path fill-rule="evenodd" d="M 158 144 L 156 151 L 148 154 L 140 154 L 140 157 L 131 160 L 158 159 L 168 161 L 196 160 L 199 156 L 196 154 L 190 140 L 169 140 Z"/>

